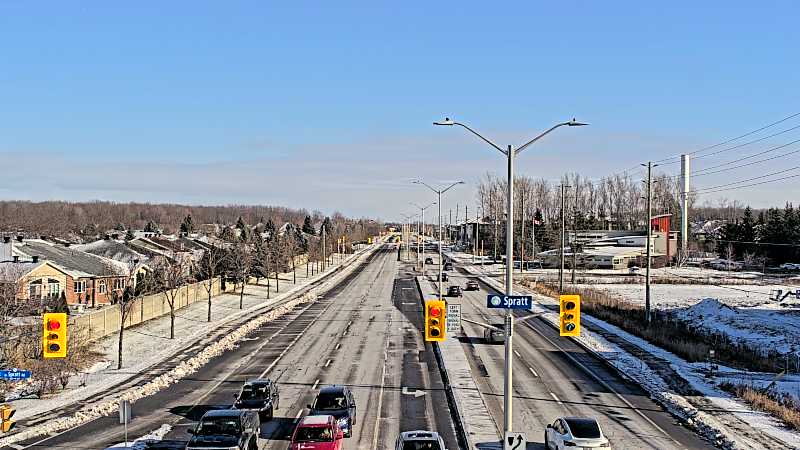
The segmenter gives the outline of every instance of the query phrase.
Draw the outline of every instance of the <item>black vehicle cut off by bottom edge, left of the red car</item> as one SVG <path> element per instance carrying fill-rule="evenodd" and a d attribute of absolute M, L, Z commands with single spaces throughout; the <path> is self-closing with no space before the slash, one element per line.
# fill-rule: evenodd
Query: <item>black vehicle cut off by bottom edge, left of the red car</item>
<path fill-rule="evenodd" d="M 203 414 L 195 428 L 186 450 L 212 448 L 231 450 L 257 450 L 261 422 L 255 411 L 241 409 L 216 409 Z"/>

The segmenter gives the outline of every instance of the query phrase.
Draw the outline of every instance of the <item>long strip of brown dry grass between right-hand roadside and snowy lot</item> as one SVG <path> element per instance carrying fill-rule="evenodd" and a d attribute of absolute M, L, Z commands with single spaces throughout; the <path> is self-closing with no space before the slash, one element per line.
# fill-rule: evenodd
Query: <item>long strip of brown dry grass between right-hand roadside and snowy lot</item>
<path fill-rule="evenodd" d="M 524 284 L 542 295 L 558 297 L 555 283 L 539 282 L 535 287 L 529 282 Z M 575 288 L 570 292 L 581 295 L 583 312 L 616 325 L 687 361 L 706 361 L 709 350 L 713 349 L 716 360 L 727 366 L 760 372 L 779 372 L 784 368 L 784 358 L 774 350 L 750 347 L 732 341 L 725 334 L 694 328 L 691 323 L 675 319 L 663 311 L 653 311 L 648 327 L 645 326 L 642 305 L 591 288 Z"/>

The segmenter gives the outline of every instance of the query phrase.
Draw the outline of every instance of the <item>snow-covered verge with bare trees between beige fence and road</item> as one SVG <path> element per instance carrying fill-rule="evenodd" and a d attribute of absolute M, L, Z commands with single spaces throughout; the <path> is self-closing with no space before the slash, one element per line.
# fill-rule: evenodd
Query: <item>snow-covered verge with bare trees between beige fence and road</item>
<path fill-rule="evenodd" d="M 324 278 L 340 267 L 340 262 L 348 264 L 354 258 L 363 254 L 361 250 L 355 254 L 345 255 L 343 260 L 336 255 L 336 264 L 329 266 L 322 273 L 315 273 L 306 277 L 305 266 L 297 268 L 297 283 L 292 283 L 292 273 L 283 273 L 279 276 L 280 292 L 275 288 L 275 279 L 270 280 L 267 288 L 266 280 L 259 280 L 258 285 L 249 284 L 244 290 L 243 308 L 239 309 L 239 289 L 236 292 L 225 293 L 211 299 L 211 322 L 207 322 L 208 302 L 192 303 L 175 311 L 175 339 L 169 339 L 170 320 L 169 314 L 149 320 L 143 324 L 126 328 L 123 337 L 123 368 L 117 370 L 118 335 L 113 334 L 97 341 L 97 351 L 100 361 L 87 371 L 73 376 L 67 389 L 44 399 L 21 398 L 10 400 L 9 403 L 17 412 L 15 419 L 30 418 L 38 414 L 47 413 L 55 408 L 81 402 L 95 395 L 113 393 L 120 384 L 125 384 L 133 378 L 146 376 L 153 378 L 167 368 L 172 368 L 179 363 L 181 356 L 202 348 L 219 336 L 214 332 L 219 328 L 230 325 L 235 319 L 241 319 L 254 313 L 254 311 L 275 304 L 309 284 Z M 309 272 L 310 274 L 310 272 Z M 269 291 L 270 299 L 267 300 Z M 154 370 L 154 366 L 169 361 L 161 370 Z"/>

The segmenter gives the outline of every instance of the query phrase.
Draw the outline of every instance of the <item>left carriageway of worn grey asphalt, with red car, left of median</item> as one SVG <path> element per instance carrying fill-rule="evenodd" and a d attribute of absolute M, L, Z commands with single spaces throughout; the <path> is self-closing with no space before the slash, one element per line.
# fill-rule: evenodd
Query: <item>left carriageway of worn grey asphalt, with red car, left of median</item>
<path fill-rule="evenodd" d="M 400 430 L 431 429 L 458 448 L 438 367 L 419 327 L 413 274 L 387 246 L 331 290 L 266 323 L 231 351 L 191 376 L 133 404 L 128 434 L 135 438 L 164 424 L 165 445 L 180 448 L 186 432 L 212 408 L 230 407 L 241 384 L 270 377 L 280 406 L 261 428 L 263 448 L 284 450 L 304 406 L 329 384 L 349 386 L 357 420 L 349 448 L 389 449 Z M 405 389 L 404 389 L 405 388 Z M 404 394 L 405 392 L 405 394 Z M 104 449 L 123 440 L 116 414 L 18 448 Z"/>

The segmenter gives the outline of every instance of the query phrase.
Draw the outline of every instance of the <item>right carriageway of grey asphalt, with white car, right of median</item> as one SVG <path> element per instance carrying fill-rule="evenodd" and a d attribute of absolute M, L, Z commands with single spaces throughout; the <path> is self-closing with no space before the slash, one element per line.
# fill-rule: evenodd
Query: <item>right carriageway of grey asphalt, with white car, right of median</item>
<path fill-rule="evenodd" d="M 450 272 L 445 286 L 463 288 L 467 278 Z M 448 301 L 463 305 L 464 318 L 502 324 L 503 310 L 486 308 L 487 294 L 496 291 L 479 284 L 479 291 L 464 291 L 464 297 Z M 516 314 L 518 318 L 526 315 Z M 489 412 L 502 430 L 504 345 L 486 343 L 479 325 L 462 325 L 466 336 L 462 347 Z M 513 423 L 515 431 L 526 434 L 528 450 L 544 448 L 545 427 L 559 416 L 596 417 L 615 449 L 714 448 L 681 426 L 640 387 L 623 380 L 570 339 L 559 337 L 540 319 L 516 320 L 513 343 Z"/>

